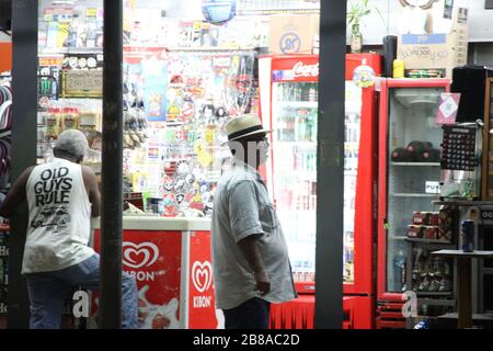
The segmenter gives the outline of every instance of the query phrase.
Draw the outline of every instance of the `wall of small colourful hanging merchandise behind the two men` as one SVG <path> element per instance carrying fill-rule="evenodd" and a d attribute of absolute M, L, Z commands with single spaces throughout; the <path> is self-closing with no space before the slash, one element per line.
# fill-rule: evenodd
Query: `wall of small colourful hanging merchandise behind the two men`
<path fill-rule="evenodd" d="M 208 216 L 229 157 L 222 126 L 257 110 L 252 48 L 265 46 L 265 19 L 215 26 L 167 16 L 158 1 L 124 4 L 125 197 L 159 215 Z M 41 1 L 38 162 L 79 128 L 92 148 L 85 165 L 101 171 L 102 43 L 100 1 Z"/>

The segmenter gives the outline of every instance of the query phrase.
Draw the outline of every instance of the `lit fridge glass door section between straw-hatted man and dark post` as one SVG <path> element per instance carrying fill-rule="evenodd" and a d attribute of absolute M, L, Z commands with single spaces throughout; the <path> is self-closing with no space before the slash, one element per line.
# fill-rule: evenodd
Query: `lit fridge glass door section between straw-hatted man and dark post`
<path fill-rule="evenodd" d="M 314 282 L 317 82 L 273 83 L 272 182 L 297 283 Z"/>

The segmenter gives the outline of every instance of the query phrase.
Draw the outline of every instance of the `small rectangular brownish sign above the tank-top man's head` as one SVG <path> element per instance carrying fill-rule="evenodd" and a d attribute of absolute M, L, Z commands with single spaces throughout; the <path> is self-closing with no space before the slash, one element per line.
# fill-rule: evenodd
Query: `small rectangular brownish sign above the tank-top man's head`
<path fill-rule="evenodd" d="M 64 98 L 102 98 L 102 70 L 64 70 L 61 73 Z"/>

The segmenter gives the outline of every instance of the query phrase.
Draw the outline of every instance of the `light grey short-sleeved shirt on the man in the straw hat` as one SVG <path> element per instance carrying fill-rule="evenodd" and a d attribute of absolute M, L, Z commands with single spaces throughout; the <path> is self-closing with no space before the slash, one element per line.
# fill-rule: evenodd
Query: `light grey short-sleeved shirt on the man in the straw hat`
<path fill-rule="evenodd" d="M 234 308 L 255 296 L 271 303 L 297 297 L 283 229 L 261 176 L 249 165 L 234 160 L 219 179 L 210 231 L 217 308 Z M 253 272 L 238 246 L 255 234 L 261 235 L 256 242 L 271 280 L 264 296 L 255 291 Z"/>

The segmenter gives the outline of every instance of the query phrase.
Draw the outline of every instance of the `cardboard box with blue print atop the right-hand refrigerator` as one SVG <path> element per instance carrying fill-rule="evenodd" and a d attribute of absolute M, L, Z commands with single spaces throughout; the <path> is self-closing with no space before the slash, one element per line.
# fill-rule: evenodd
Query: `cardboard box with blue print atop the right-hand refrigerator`
<path fill-rule="evenodd" d="M 406 73 L 412 69 L 436 69 L 451 79 L 452 69 L 468 59 L 467 9 L 457 9 L 450 33 L 399 35 L 398 58 L 404 61 Z"/>

